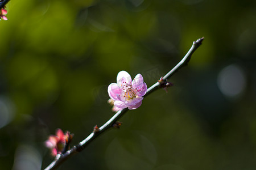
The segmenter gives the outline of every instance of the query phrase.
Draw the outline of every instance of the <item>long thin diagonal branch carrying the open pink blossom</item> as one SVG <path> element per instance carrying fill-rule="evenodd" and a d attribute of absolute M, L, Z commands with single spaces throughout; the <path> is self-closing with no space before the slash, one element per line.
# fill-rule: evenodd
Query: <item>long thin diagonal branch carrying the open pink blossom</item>
<path fill-rule="evenodd" d="M 193 45 L 189 49 L 188 53 L 183 57 L 183 59 L 181 59 L 181 61 L 177 63 L 177 65 L 171 71 L 169 71 L 169 73 L 163 76 L 164 82 L 167 82 L 168 78 L 174 75 L 179 69 L 181 69 L 181 67 L 188 64 L 193 52 L 195 52 L 195 50 L 199 48 L 203 40 L 204 40 L 204 37 L 196 41 L 193 41 Z M 146 97 L 148 94 L 151 94 L 151 92 L 157 90 L 160 87 L 159 85 L 160 83 L 156 82 L 154 85 L 152 85 L 150 88 L 147 89 L 147 93 L 143 97 Z M 110 118 L 110 120 L 107 121 L 104 125 L 102 125 L 97 132 L 94 131 L 93 133 L 91 133 L 87 138 L 84 139 L 84 141 L 80 142 L 79 145 L 73 146 L 70 150 L 68 150 L 64 154 L 58 154 L 55 160 L 51 164 L 49 164 L 48 167 L 44 170 L 56 169 L 61 163 L 63 163 L 68 158 L 70 158 L 72 155 L 84 150 L 84 148 L 87 145 L 89 145 L 89 143 L 92 142 L 93 139 L 98 137 L 98 135 L 104 133 L 104 131 L 108 130 L 109 128 L 113 128 L 113 124 L 115 124 L 115 122 L 117 122 L 119 118 L 121 118 L 127 111 L 128 109 L 125 108 L 125 109 L 122 109 L 122 111 L 118 111 L 117 113 L 115 113 L 114 116 Z"/>

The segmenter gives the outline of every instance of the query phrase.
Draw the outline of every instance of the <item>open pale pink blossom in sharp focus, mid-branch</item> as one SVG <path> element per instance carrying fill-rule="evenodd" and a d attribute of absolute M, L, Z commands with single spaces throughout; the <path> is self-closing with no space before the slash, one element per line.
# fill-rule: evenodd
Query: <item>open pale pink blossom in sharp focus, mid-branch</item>
<path fill-rule="evenodd" d="M 142 99 L 147 92 L 147 84 L 143 82 L 141 74 L 137 74 L 133 80 L 126 71 L 117 74 L 117 83 L 111 83 L 108 87 L 109 97 L 114 100 L 115 110 L 129 108 L 137 109 L 142 104 Z"/>

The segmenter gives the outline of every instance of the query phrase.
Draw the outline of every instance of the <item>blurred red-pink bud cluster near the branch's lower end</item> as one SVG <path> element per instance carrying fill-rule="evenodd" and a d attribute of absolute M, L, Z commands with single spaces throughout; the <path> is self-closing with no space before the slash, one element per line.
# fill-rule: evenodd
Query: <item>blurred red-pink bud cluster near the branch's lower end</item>
<path fill-rule="evenodd" d="M 73 134 L 70 134 L 69 131 L 64 134 L 61 129 L 57 129 L 56 135 L 50 135 L 45 145 L 51 150 L 51 155 L 56 156 L 57 154 L 63 153 L 72 138 Z"/>

